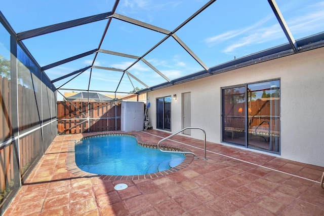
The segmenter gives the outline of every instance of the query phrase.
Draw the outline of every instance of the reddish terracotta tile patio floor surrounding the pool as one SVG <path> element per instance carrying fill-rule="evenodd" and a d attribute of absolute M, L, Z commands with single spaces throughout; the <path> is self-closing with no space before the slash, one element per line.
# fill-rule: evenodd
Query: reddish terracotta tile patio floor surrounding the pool
<path fill-rule="evenodd" d="M 148 143 L 170 135 L 132 134 Z M 68 144 L 82 136 L 55 138 L 4 215 L 324 215 L 324 167 L 212 142 L 203 160 L 204 151 L 194 148 L 203 148 L 203 141 L 176 135 L 178 142 L 164 143 L 199 159 L 175 173 L 133 180 L 82 177 L 66 165 Z M 118 183 L 128 188 L 114 190 Z"/>

